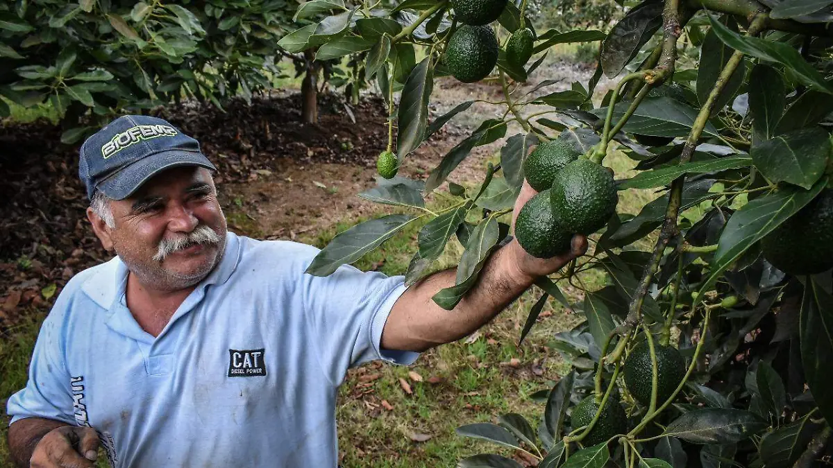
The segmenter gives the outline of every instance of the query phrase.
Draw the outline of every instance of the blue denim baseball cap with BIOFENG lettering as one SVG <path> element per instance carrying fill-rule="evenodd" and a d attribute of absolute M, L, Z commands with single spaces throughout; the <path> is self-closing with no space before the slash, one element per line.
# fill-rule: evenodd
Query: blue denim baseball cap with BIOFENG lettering
<path fill-rule="evenodd" d="M 200 144 L 157 117 L 122 116 L 81 145 L 78 177 L 87 197 L 97 190 L 123 200 L 166 169 L 200 166 L 217 171 L 200 151 Z"/>

